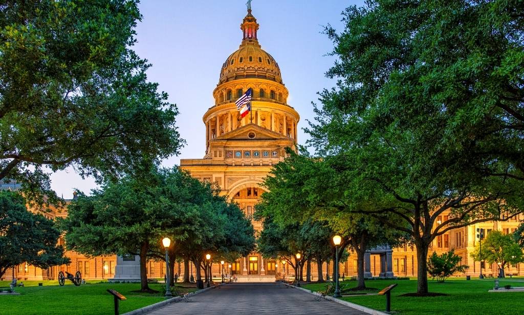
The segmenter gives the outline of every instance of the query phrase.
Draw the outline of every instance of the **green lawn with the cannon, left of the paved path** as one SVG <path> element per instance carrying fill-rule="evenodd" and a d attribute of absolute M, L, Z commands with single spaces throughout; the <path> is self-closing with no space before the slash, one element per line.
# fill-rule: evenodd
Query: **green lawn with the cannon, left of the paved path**
<path fill-rule="evenodd" d="M 115 289 L 127 300 L 120 301 L 120 313 L 129 312 L 164 300 L 162 284 L 149 284 L 149 287 L 160 291 L 157 294 L 131 292 L 140 289 L 140 284 L 100 283 L 100 280 L 87 280 L 79 287 L 66 281 L 60 287 L 58 281 L 23 281 L 25 287 L 15 289 L 20 295 L 1 295 L 0 314 L 112 314 L 114 313 L 113 296 L 106 290 Z M 68 284 L 69 282 L 69 284 Z M 43 283 L 39 287 L 38 283 Z M 9 281 L 0 281 L 0 287 L 9 287 Z M 193 287 L 179 287 L 180 292 L 195 291 Z"/>

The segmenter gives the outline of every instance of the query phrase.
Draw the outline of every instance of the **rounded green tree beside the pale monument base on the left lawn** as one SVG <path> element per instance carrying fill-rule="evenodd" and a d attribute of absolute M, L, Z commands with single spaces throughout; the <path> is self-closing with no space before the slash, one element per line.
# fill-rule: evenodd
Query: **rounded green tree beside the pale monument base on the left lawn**
<path fill-rule="evenodd" d="M 180 226 L 194 224 L 198 216 L 196 207 L 187 207 L 185 197 L 192 195 L 182 180 L 187 173 L 155 166 L 147 171 L 107 182 L 91 196 L 79 193 L 61 222 L 72 251 L 88 256 L 139 255 L 141 291 L 150 291 L 148 258 L 164 259 L 161 239 Z"/>

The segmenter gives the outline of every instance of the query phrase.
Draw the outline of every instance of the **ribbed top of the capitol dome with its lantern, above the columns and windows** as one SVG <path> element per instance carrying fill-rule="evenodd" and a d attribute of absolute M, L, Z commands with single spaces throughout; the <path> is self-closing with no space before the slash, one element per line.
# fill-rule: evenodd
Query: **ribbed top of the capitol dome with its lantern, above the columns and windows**
<path fill-rule="evenodd" d="M 259 78 L 282 83 L 275 59 L 260 48 L 257 39 L 257 19 L 248 12 L 240 27 L 242 44 L 222 64 L 219 84 L 237 79 Z"/>

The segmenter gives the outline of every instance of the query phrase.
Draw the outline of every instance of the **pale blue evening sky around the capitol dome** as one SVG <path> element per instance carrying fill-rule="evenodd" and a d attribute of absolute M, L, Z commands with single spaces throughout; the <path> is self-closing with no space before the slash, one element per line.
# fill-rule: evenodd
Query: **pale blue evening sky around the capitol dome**
<path fill-rule="evenodd" d="M 222 64 L 241 44 L 245 3 L 143 0 L 139 5 L 143 18 L 136 27 L 133 49 L 152 64 L 148 80 L 158 82 L 159 91 L 167 92 L 169 102 L 177 104 L 176 125 L 186 141 L 180 155 L 162 161 L 166 167 L 204 156 L 202 116 L 214 105 L 212 92 Z M 318 103 L 316 93 L 335 84 L 325 77 L 335 58 L 326 56 L 333 43 L 322 31 L 328 24 L 341 31 L 341 13 L 351 5 L 362 6 L 363 1 L 252 1 L 252 14 L 260 25 L 259 44 L 278 62 L 289 90 L 288 104 L 300 114 L 299 144 L 308 139 L 302 128 L 307 120 L 314 120 L 311 102 Z M 53 173 L 51 180 L 51 187 L 66 199 L 72 198 L 74 189 L 89 193 L 96 188 L 92 178 L 82 179 L 74 168 Z"/>

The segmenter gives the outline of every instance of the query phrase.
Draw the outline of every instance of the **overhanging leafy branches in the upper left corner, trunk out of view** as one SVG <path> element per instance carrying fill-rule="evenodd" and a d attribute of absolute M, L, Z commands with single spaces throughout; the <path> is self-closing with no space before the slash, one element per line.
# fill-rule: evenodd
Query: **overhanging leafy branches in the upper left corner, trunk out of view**
<path fill-rule="evenodd" d="M 58 202 L 45 167 L 119 177 L 177 153 L 177 107 L 130 49 L 137 1 L 0 5 L 0 180 Z"/>

